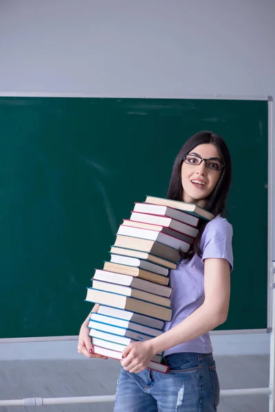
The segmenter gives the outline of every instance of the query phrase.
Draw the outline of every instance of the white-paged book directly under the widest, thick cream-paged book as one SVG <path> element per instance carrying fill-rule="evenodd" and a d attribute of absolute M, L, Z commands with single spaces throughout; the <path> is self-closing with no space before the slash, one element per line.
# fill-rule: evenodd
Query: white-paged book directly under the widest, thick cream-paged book
<path fill-rule="evenodd" d="M 150 328 L 159 330 L 162 330 L 162 328 L 164 327 L 164 321 L 159 321 L 159 319 L 144 316 L 143 314 L 130 312 L 129 310 L 110 308 L 109 306 L 100 305 L 98 312 L 96 313 L 104 314 L 116 319 L 124 319 L 125 321 L 140 323 L 140 325 L 149 326 Z"/>

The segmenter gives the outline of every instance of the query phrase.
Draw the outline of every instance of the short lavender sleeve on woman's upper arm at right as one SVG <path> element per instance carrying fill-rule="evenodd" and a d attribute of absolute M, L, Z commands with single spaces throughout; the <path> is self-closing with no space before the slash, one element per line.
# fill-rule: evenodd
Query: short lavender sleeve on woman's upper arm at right
<path fill-rule="evenodd" d="M 220 216 L 211 220 L 203 233 L 201 260 L 220 258 L 228 260 L 230 272 L 233 270 L 232 225 Z"/>

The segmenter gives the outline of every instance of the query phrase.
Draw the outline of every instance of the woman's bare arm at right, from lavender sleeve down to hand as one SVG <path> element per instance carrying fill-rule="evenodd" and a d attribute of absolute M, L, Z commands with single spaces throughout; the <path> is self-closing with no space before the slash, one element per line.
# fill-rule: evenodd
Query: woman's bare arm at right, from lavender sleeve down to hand
<path fill-rule="evenodd" d="M 217 328 L 228 316 L 230 301 L 230 264 L 228 260 L 211 258 L 204 264 L 203 304 L 184 321 L 146 342 L 130 343 L 122 352 L 122 366 L 127 371 L 141 371 L 159 352 L 191 341 Z"/>

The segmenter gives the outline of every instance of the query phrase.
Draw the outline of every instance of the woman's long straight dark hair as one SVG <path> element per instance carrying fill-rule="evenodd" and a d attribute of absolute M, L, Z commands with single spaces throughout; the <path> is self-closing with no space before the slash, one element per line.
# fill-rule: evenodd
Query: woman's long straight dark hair
<path fill-rule="evenodd" d="M 183 162 L 182 159 L 196 146 L 207 143 L 214 144 L 217 147 L 224 165 L 220 179 L 213 192 L 206 199 L 207 203 L 204 207 L 204 209 L 210 211 L 212 214 L 214 214 L 214 216 L 217 216 L 217 214 L 222 214 L 225 209 L 225 199 L 228 195 L 228 190 L 231 183 L 231 157 L 228 147 L 226 146 L 225 141 L 222 139 L 222 137 L 216 135 L 215 133 L 212 133 L 211 131 L 196 133 L 195 135 L 190 137 L 190 139 L 185 142 L 184 146 L 182 146 L 181 150 L 179 150 L 179 154 L 177 155 L 173 165 L 166 198 L 172 199 L 174 201 L 183 200 L 183 188 L 181 184 L 181 165 Z M 195 241 L 190 247 L 188 253 L 181 251 L 181 258 L 190 260 L 196 253 L 197 255 L 199 255 L 199 257 L 201 257 L 201 236 L 203 230 L 206 227 L 206 224 L 207 221 L 203 222 L 203 224 L 199 227 L 199 233 L 197 234 Z"/>

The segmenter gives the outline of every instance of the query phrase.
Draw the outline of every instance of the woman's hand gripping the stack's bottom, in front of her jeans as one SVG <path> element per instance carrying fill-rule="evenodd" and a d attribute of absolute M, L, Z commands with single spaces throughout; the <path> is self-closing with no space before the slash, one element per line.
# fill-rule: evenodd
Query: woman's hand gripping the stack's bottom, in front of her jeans
<path fill-rule="evenodd" d="M 148 367 L 148 363 L 155 355 L 150 341 L 129 343 L 122 351 L 124 359 L 120 361 L 125 371 L 138 373 Z"/>

